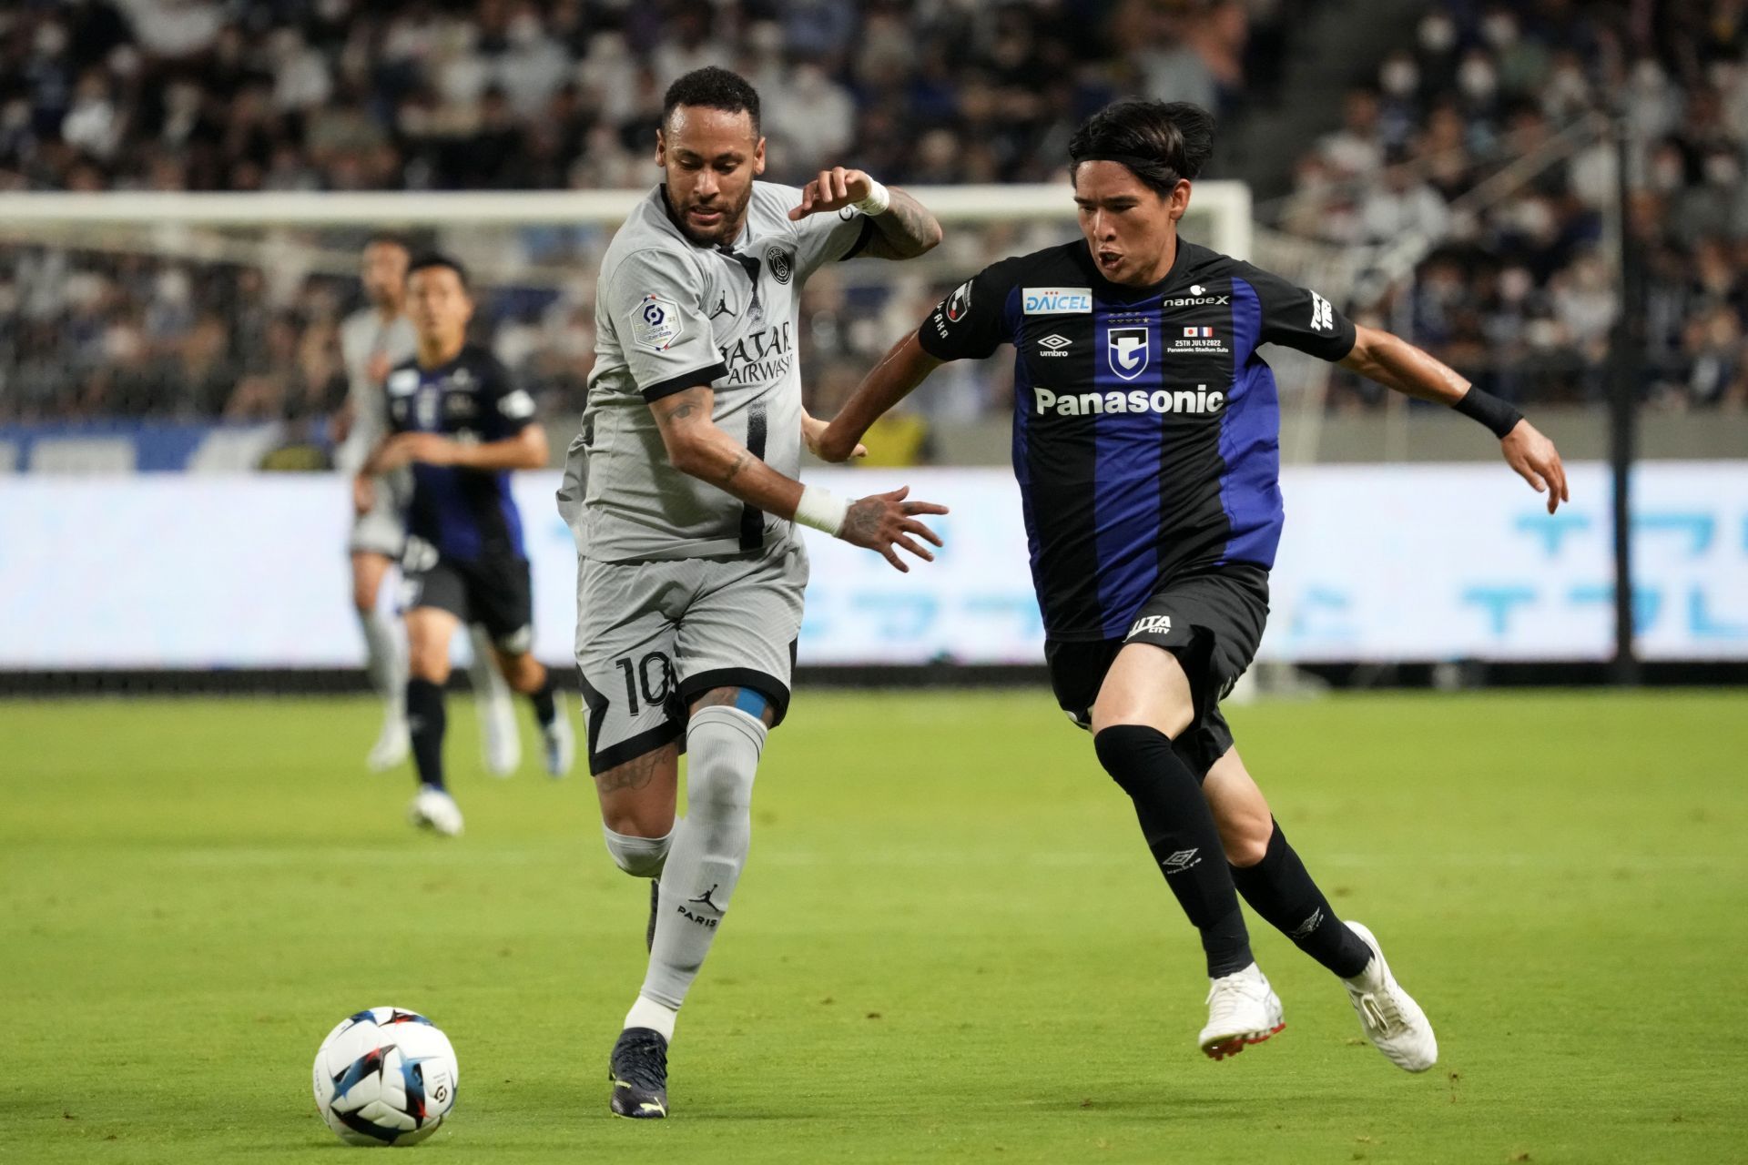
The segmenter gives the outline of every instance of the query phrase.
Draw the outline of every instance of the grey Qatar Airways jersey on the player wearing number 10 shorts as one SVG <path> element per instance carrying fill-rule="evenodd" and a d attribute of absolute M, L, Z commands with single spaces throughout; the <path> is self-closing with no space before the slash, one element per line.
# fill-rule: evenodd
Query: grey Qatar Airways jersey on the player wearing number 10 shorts
<path fill-rule="evenodd" d="M 790 536 L 788 520 L 668 465 L 649 405 L 710 384 L 715 423 L 797 475 L 801 286 L 862 250 L 872 231 L 850 210 L 790 222 L 799 204 L 799 189 L 755 182 L 741 238 L 711 248 L 680 232 L 656 187 L 614 236 L 596 290 L 589 405 L 559 494 L 584 555 L 689 559 Z"/>

